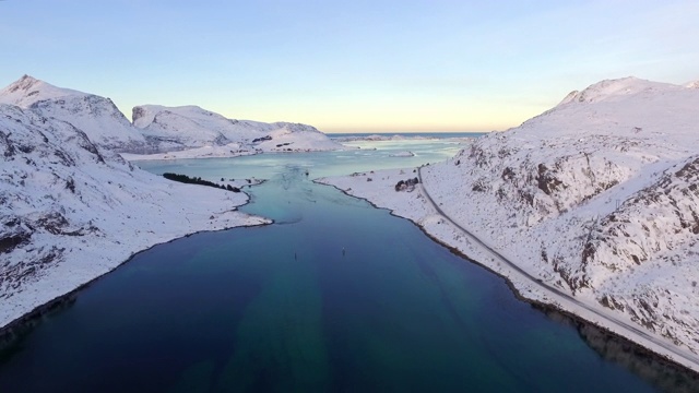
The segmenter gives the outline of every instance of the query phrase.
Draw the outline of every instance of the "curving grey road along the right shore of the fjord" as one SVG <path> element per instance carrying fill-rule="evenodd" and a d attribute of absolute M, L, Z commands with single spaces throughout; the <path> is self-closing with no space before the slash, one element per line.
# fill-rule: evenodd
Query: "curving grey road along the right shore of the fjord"
<path fill-rule="evenodd" d="M 463 233 L 463 235 L 465 237 L 467 237 L 473 243 L 477 245 L 478 247 L 483 248 L 483 250 L 487 251 L 488 253 L 490 253 L 496 261 L 507 265 L 509 269 L 511 269 L 512 271 L 517 272 L 519 275 L 521 275 L 522 278 L 526 279 L 530 282 L 531 285 L 537 287 L 538 289 L 543 290 L 546 295 L 548 295 L 549 297 L 554 298 L 555 300 L 558 300 L 561 303 L 565 302 L 569 302 L 572 303 L 579 308 L 582 308 L 584 310 L 587 310 L 588 312 L 590 312 L 591 314 L 593 314 L 594 317 L 599 318 L 602 323 L 601 325 L 603 327 L 606 329 L 616 329 L 616 330 L 621 330 L 625 332 L 628 332 L 628 334 L 624 334 L 624 336 L 626 336 L 626 338 L 629 338 L 636 343 L 638 343 L 639 345 L 642 345 L 655 353 L 659 353 L 663 356 L 666 356 L 668 359 L 684 365 L 685 367 L 690 368 L 691 370 L 699 372 L 699 357 L 694 356 L 692 354 L 685 352 L 683 349 L 680 349 L 679 347 L 671 344 L 671 343 L 666 343 L 662 340 L 660 340 L 659 337 L 655 337 L 653 335 L 651 335 L 650 333 L 641 330 L 639 326 L 629 324 L 626 321 L 619 320 L 616 318 L 616 315 L 612 315 L 608 314 L 606 312 L 603 312 L 600 309 L 596 309 L 594 307 L 591 307 L 580 300 L 578 300 L 577 298 L 574 298 L 573 296 L 566 294 L 564 291 L 561 291 L 560 289 L 553 287 L 542 281 L 540 281 L 537 277 L 529 274 L 526 271 L 524 271 L 523 269 L 521 269 L 520 266 L 518 266 L 517 264 L 514 264 L 512 261 L 510 261 L 508 258 L 503 257 L 502 254 L 500 254 L 498 251 L 494 250 L 490 246 L 488 246 L 487 243 L 485 243 L 483 240 L 481 240 L 477 236 L 475 236 L 473 233 L 471 233 L 469 229 L 462 227 L 461 225 L 459 225 L 458 223 L 455 223 L 451 217 L 449 217 L 440 207 L 437 203 L 435 203 L 435 201 L 433 200 L 433 198 L 430 196 L 429 192 L 427 191 L 427 187 L 425 184 L 425 182 L 423 181 L 423 174 L 422 174 L 422 169 L 423 167 L 417 168 L 417 177 L 419 179 L 419 184 L 420 184 L 420 190 L 423 192 L 423 194 L 425 195 L 426 200 L 433 205 L 433 207 L 435 209 L 435 212 L 437 212 L 437 214 L 439 214 L 440 216 L 442 216 L 445 218 L 445 221 L 447 221 L 448 223 L 450 223 L 453 227 L 458 228 L 460 231 Z M 509 277 L 506 277 L 509 278 Z M 562 307 L 561 307 L 562 308 Z M 572 313 L 576 313 L 573 311 L 571 311 L 570 309 L 566 310 Z M 576 313 L 577 314 L 577 313 Z M 584 318 L 582 315 L 579 315 L 581 318 Z M 590 321 L 595 323 L 595 321 Z M 650 345 L 649 345 L 650 344 Z"/>

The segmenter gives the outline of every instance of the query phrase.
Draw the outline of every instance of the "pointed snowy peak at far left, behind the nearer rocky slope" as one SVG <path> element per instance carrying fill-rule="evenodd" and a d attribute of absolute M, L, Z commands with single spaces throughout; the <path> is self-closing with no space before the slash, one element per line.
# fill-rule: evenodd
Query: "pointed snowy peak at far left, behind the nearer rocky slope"
<path fill-rule="evenodd" d="M 105 148 L 131 153 L 153 151 L 109 98 L 56 87 L 24 75 L 0 91 L 0 103 L 70 122 Z"/>

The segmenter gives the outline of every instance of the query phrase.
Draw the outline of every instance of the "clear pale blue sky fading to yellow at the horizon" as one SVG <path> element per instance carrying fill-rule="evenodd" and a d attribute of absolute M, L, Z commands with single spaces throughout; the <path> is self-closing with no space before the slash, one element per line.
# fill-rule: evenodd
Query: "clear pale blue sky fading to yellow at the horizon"
<path fill-rule="evenodd" d="M 697 1 L 3 0 L 0 86 L 324 132 L 490 131 L 633 75 L 699 80 Z"/>

